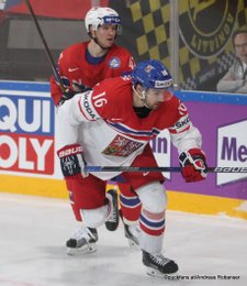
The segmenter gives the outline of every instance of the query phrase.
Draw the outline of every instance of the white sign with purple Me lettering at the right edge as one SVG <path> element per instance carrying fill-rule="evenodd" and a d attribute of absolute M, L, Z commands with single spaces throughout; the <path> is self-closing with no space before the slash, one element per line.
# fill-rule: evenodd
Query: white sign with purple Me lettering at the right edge
<path fill-rule="evenodd" d="M 247 120 L 218 128 L 217 166 L 247 167 Z M 247 179 L 246 173 L 217 174 L 216 184 Z"/>

